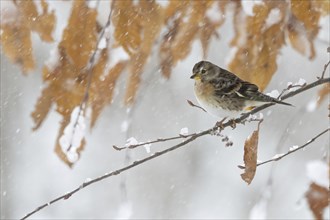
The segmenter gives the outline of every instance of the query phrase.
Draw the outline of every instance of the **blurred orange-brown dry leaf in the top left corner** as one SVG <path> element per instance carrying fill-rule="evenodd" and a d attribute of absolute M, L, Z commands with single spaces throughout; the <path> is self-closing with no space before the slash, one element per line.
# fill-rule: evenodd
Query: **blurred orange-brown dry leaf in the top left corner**
<path fill-rule="evenodd" d="M 55 26 L 55 14 L 48 12 L 45 1 L 15 1 L 7 4 L 12 4 L 11 10 L 1 12 L 3 51 L 13 63 L 21 66 L 23 73 L 27 73 L 35 67 L 31 31 L 36 31 L 43 41 L 53 41 L 51 34 Z M 42 14 L 38 14 L 35 4 L 41 4 Z"/>

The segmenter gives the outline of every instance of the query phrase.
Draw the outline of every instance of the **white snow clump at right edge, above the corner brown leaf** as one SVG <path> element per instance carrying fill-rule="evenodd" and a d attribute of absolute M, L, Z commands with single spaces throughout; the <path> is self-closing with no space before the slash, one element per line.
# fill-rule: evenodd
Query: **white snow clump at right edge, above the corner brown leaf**
<path fill-rule="evenodd" d="M 329 166 L 320 160 L 315 160 L 307 163 L 307 176 L 308 178 L 325 188 L 329 187 Z"/>

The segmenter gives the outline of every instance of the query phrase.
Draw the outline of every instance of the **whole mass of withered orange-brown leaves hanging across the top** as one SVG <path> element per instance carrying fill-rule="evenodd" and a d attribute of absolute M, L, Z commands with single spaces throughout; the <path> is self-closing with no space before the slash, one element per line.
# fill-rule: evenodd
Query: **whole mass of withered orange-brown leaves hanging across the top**
<path fill-rule="evenodd" d="M 100 48 L 97 44 L 103 27 L 97 21 L 98 8 L 88 7 L 84 0 L 72 0 L 69 20 L 57 45 L 58 60 L 43 67 L 45 86 L 32 113 L 34 129 L 55 106 L 62 116 L 55 151 L 70 166 L 73 162 L 59 140 L 73 110 L 80 106 L 85 114 L 83 106 L 90 108 L 93 127 L 103 108 L 111 104 L 116 82 L 124 71 L 128 72 L 124 102 L 134 104 L 144 67 L 154 51 L 162 76 L 169 78 L 173 67 L 189 55 L 195 40 L 201 42 L 207 56 L 210 39 L 221 34 L 226 11 L 233 10 L 235 36 L 231 46 L 236 52 L 229 68 L 264 89 L 276 72 L 277 57 L 286 43 L 310 59 L 315 57 L 318 22 L 330 12 L 326 0 L 263 1 L 254 6 L 254 15 L 247 15 L 239 0 L 174 0 L 166 6 L 156 1 L 114 0 L 109 1 L 110 7 L 113 29 L 109 29 L 113 31 L 106 46 Z M 56 15 L 60 16 L 56 13 L 49 10 L 45 0 L 13 0 L 11 9 L 2 12 L 3 53 L 24 73 L 35 68 L 31 32 L 43 41 L 53 41 Z M 274 13 L 278 19 L 269 21 Z M 110 66 L 112 52 L 118 48 L 128 58 Z M 84 143 L 82 140 L 78 154 Z"/>

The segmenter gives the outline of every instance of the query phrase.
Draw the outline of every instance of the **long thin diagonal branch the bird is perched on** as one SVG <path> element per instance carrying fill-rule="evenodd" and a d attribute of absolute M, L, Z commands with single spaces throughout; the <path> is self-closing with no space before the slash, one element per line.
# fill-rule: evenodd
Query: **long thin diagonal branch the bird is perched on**
<path fill-rule="evenodd" d="M 320 78 L 320 79 L 318 79 L 317 81 L 315 81 L 315 82 L 313 82 L 313 83 L 307 84 L 307 85 L 306 85 L 305 87 L 303 87 L 303 88 L 300 88 L 300 89 L 297 89 L 297 90 L 295 90 L 295 91 L 289 92 L 288 94 L 286 94 L 286 95 L 283 96 L 282 100 L 287 99 L 287 98 L 290 98 L 290 97 L 292 97 L 292 96 L 295 96 L 295 95 L 297 95 L 297 94 L 299 94 L 299 93 L 302 93 L 302 92 L 304 92 L 304 91 L 306 91 L 306 90 L 309 90 L 309 89 L 311 89 L 311 88 L 314 88 L 314 87 L 316 87 L 316 86 L 318 86 L 318 85 L 321 85 L 321 84 L 324 84 L 324 83 L 329 83 L 329 82 L 330 82 L 330 78 Z M 255 114 L 255 113 L 257 113 L 257 112 L 259 112 L 259 111 L 261 111 L 261 110 L 263 110 L 263 109 L 265 109 L 265 108 L 268 108 L 268 107 L 270 107 L 270 106 L 272 106 L 272 105 L 274 105 L 274 104 L 273 104 L 273 103 L 269 103 L 269 104 L 265 104 L 265 105 L 262 105 L 262 106 L 260 106 L 260 107 L 257 107 L 257 108 L 255 108 L 255 109 L 253 109 L 251 112 L 249 112 L 249 113 L 247 113 L 247 114 L 244 114 L 244 115 L 242 115 L 241 117 L 235 119 L 234 121 L 235 121 L 236 123 L 240 123 L 240 122 L 244 121 L 246 118 L 248 118 L 249 115 L 251 115 L 251 114 Z M 224 128 L 226 128 L 226 127 L 230 127 L 231 125 L 232 125 L 232 121 L 227 121 L 226 123 L 223 123 L 223 124 L 221 125 L 221 129 L 224 129 Z M 37 208 L 36 208 L 35 210 L 33 210 L 32 212 L 29 212 L 28 214 L 26 214 L 22 219 L 27 219 L 28 217 L 30 217 L 30 216 L 33 215 L 34 213 L 36 213 L 36 212 L 38 212 L 38 211 L 44 209 L 45 207 L 47 207 L 47 206 L 49 206 L 49 205 L 51 205 L 51 204 L 53 204 L 53 203 L 55 203 L 55 202 L 58 202 L 58 201 L 60 201 L 60 200 L 62 200 L 62 199 L 66 200 L 66 199 L 70 198 L 73 194 L 77 193 L 77 192 L 80 191 L 81 189 L 83 189 L 83 188 L 85 188 L 85 187 L 87 187 L 87 186 L 89 186 L 89 185 L 91 185 L 91 184 L 93 184 L 93 183 L 99 182 L 99 181 L 101 181 L 101 180 L 103 180 L 103 179 L 106 179 L 106 178 L 109 178 L 109 177 L 111 177 L 111 176 L 119 175 L 120 173 L 122 173 L 122 172 L 124 172 L 124 171 L 126 171 L 126 170 L 129 170 L 129 169 L 131 169 L 131 168 L 133 168 L 133 167 L 136 167 L 136 166 L 138 166 L 138 165 L 140 165 L 140 164 L 143 164 L 143 163 L 145 163 L 145 162 L 147 162 L 147 161 L 149 161 L 149 160 L 152 160 L 152 159 L 154 159 L 154 158 L 156 158 L 156 157 L 160 157 L 160 156 L 162 156 L 162 155 L 164 155 L 164 154 L 167 154 L 167 153 L 169 153 L 169 152 L 171 152 L 171 151 L 174 151 L 174 150 L 176 150 L 176 149 L 178 149 L 178 148 L 181 148 L 181 147 L 183 147 L 183 146 L 186 146 L 187 144 L 189 144 L 190 142 L 196 140 L 197 138 L 203 137 L 203 136 L 205 136 L 205 135 L 210 135 L 210 134 L 212 134 L 212 133 L 214 132 L 214 130 L 218 130 L 218 129 L 220 129 L 220 128 L 219 128 L 219 126 L 216 124 L 214 127 L 210 128 L 210 129 L 207 129 L 207 130 L 204 130 L 204 131 L 198 132 L 198 133 L 194 134 L 193 136 L 190 136 L 188 139 L 182 141 L 182 142 L 179 143 L 179 144 L 176 144 L 176 145 L 174 145 L 174 146 L 172 146 L 172 147 L 169 147 L 169 148 L 167 148 L 167 149 L 165 149 L 165 150 L 163 150 L 163 151 L 156 152 L 156 153 L 152 154 L 151 156 L 146 157 L 146 158 L 144 158 L 144 159 L 136 160 L 136 161 L 134 161 L 133 163 L 131 163 L 130 165 L 127 165 L 127 166 L 125 166 L 125 167 L 122 167 L 122 168 L 120 168 L 120 169 L 118 169 L 118 170 L 115 170 L 115 171 L 113 171 L 113 172 L 111 172 L 111 173 L 106 173 L 106 174 L 104 174 L 104 175 L 102 175 L 102 176 L 99 176 L 99 177 L 97 177 L 97 178 L 95 178 L 95 179 L 92 179 L 92 180 L 86 181 L 86 182 L 84 182 L 83 184 L 81 184 L 79 187 L 77 187 L 76 189 L 74 189 L 74 190 L 72 190 L 72 191 L 70 191 L 70 192 L 68 192 L 68 193 L 66 193 L 66 194 L 64 194 L 64 195 L 62 195 L 62 196 L 59 196 L 59 197 L 57 197 L 57 198 L 51 200 L 50 202 L 47 202 L 47 203 L 45 203 L 45 204 L 43 204 L 43 205 L 37 207 Z M 329 131 L 329 129 L 327 129 L 326 131 L 322 132 L 320 135 L 322 135 L 323 133 L 325 133 L 325 132 L 327 132 L 327 131 Z M 320 135 L 316 136 L 316 137 L 313 138 L 313 139 L 318 138 Z M 312 140 L 313 140 L 313 139 L 312 139 Z"/>

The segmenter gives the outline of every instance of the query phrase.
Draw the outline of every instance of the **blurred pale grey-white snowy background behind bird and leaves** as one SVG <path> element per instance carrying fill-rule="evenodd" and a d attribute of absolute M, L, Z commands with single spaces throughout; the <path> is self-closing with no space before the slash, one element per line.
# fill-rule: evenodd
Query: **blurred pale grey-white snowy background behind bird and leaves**
<path fill-rule="evenodd" d="M 69 2 L 51 5 L 57 10 L 57 40 L 70 12 Z M 2 6 L 5 7 L 5 6 Z M 108 7 L 99 17 L 105 21 Z M 60 10 L 60 13 L 58 12 Z M 230 13 L 228 16 L 231 16 Z M 323 19 L 327 21 L 329 17 Z M 316 40 L 315 60 L 310 61 L 288 45 L 278 59 L 278 70 L 265 92 L 285 88 L 288 82 L 300 78 L 312 82 L 329 59 L 329 22 Z M 213 39 L 208 60 L 226 68 L 230 56 L 229 42 L 233 37 L 231 19 L 221 27 L 220 39 Z M 32 132 L 31 112 L 43 87 L 41 67 L 54 45 L 41 43 L 33 35 L 37 70 L 23 76 L 18 66 L 1 54 L 1 218 L 21 218 L 37 206 L 72 190 L 87 178 L 95 178 L 125 165 L 125 152 L 112 145 L 123 146 L 130 137 L 138 141 L 153 140 L 179 134 L 183 127 L 197 132 L 212 127 L 216 119 L 192 108 L 186 100 L 196 102 L 193 80 L 189 79 L 193 65 L 202 59 L 199 41 L 189 57 L 179 63 L 169 80 L 162 79 L 151 58 L 145 69 L 143 86 L 137 104 L 128 112 L 122 104 L 125 77 L 116 88 L 116 97 L 98 120 L 92 132 L 87 132 L 87 145 L 73 169 L 69 169 L 53 152 L 60 117 L 51 112 L 41 129 Z M 156 70 L 156 71 L 155 71 Z M 273 106 L 263 111 L 258 159 L 266 160 L 285 153 L 293 145 L 302 145 L 329 126 L 328 101 L 315 109 L 319 88 L 287 100 L 295 105 Z M 224 131 L 234 142 L 226 148 L 219 137 L 206 136 L 174 152 L 130 169 L 78 192 L 38 212 L 33 219 L 113 219 L 113 218 L 185 218 L 238 219 L 249 218 L 252 208 L 262 196 L 254 215 L 281 219 L 311 219 L 304 193 L 310 179 L 306 165 L 329 153 L 327 135 L 278 162 L 257 169 L 251 185 L 240 177 L 237 165 L 243 161 L 243 146 L 256 123 L 239 125 Z M 130 161 L 149 156 L 171 146 L 167 142 L 131 150 Z M 277 148 L 280 145 L 280 148 Z M 276 149 L 277 148 L 277 149 Z M 272 187 L 267 181 L 272 176 Z M 126 183 L 123 190 L 122 183 Z M 124 192 L 126 191 L 126 192 Z M 267 191 L 267 193 L 264 193 Z M 127 194 L 125 196 L 125 193 Z M 256 210 L 256 209 L 255 209 Z M 329 216 L 329 209 L 325 216 Z"/>

